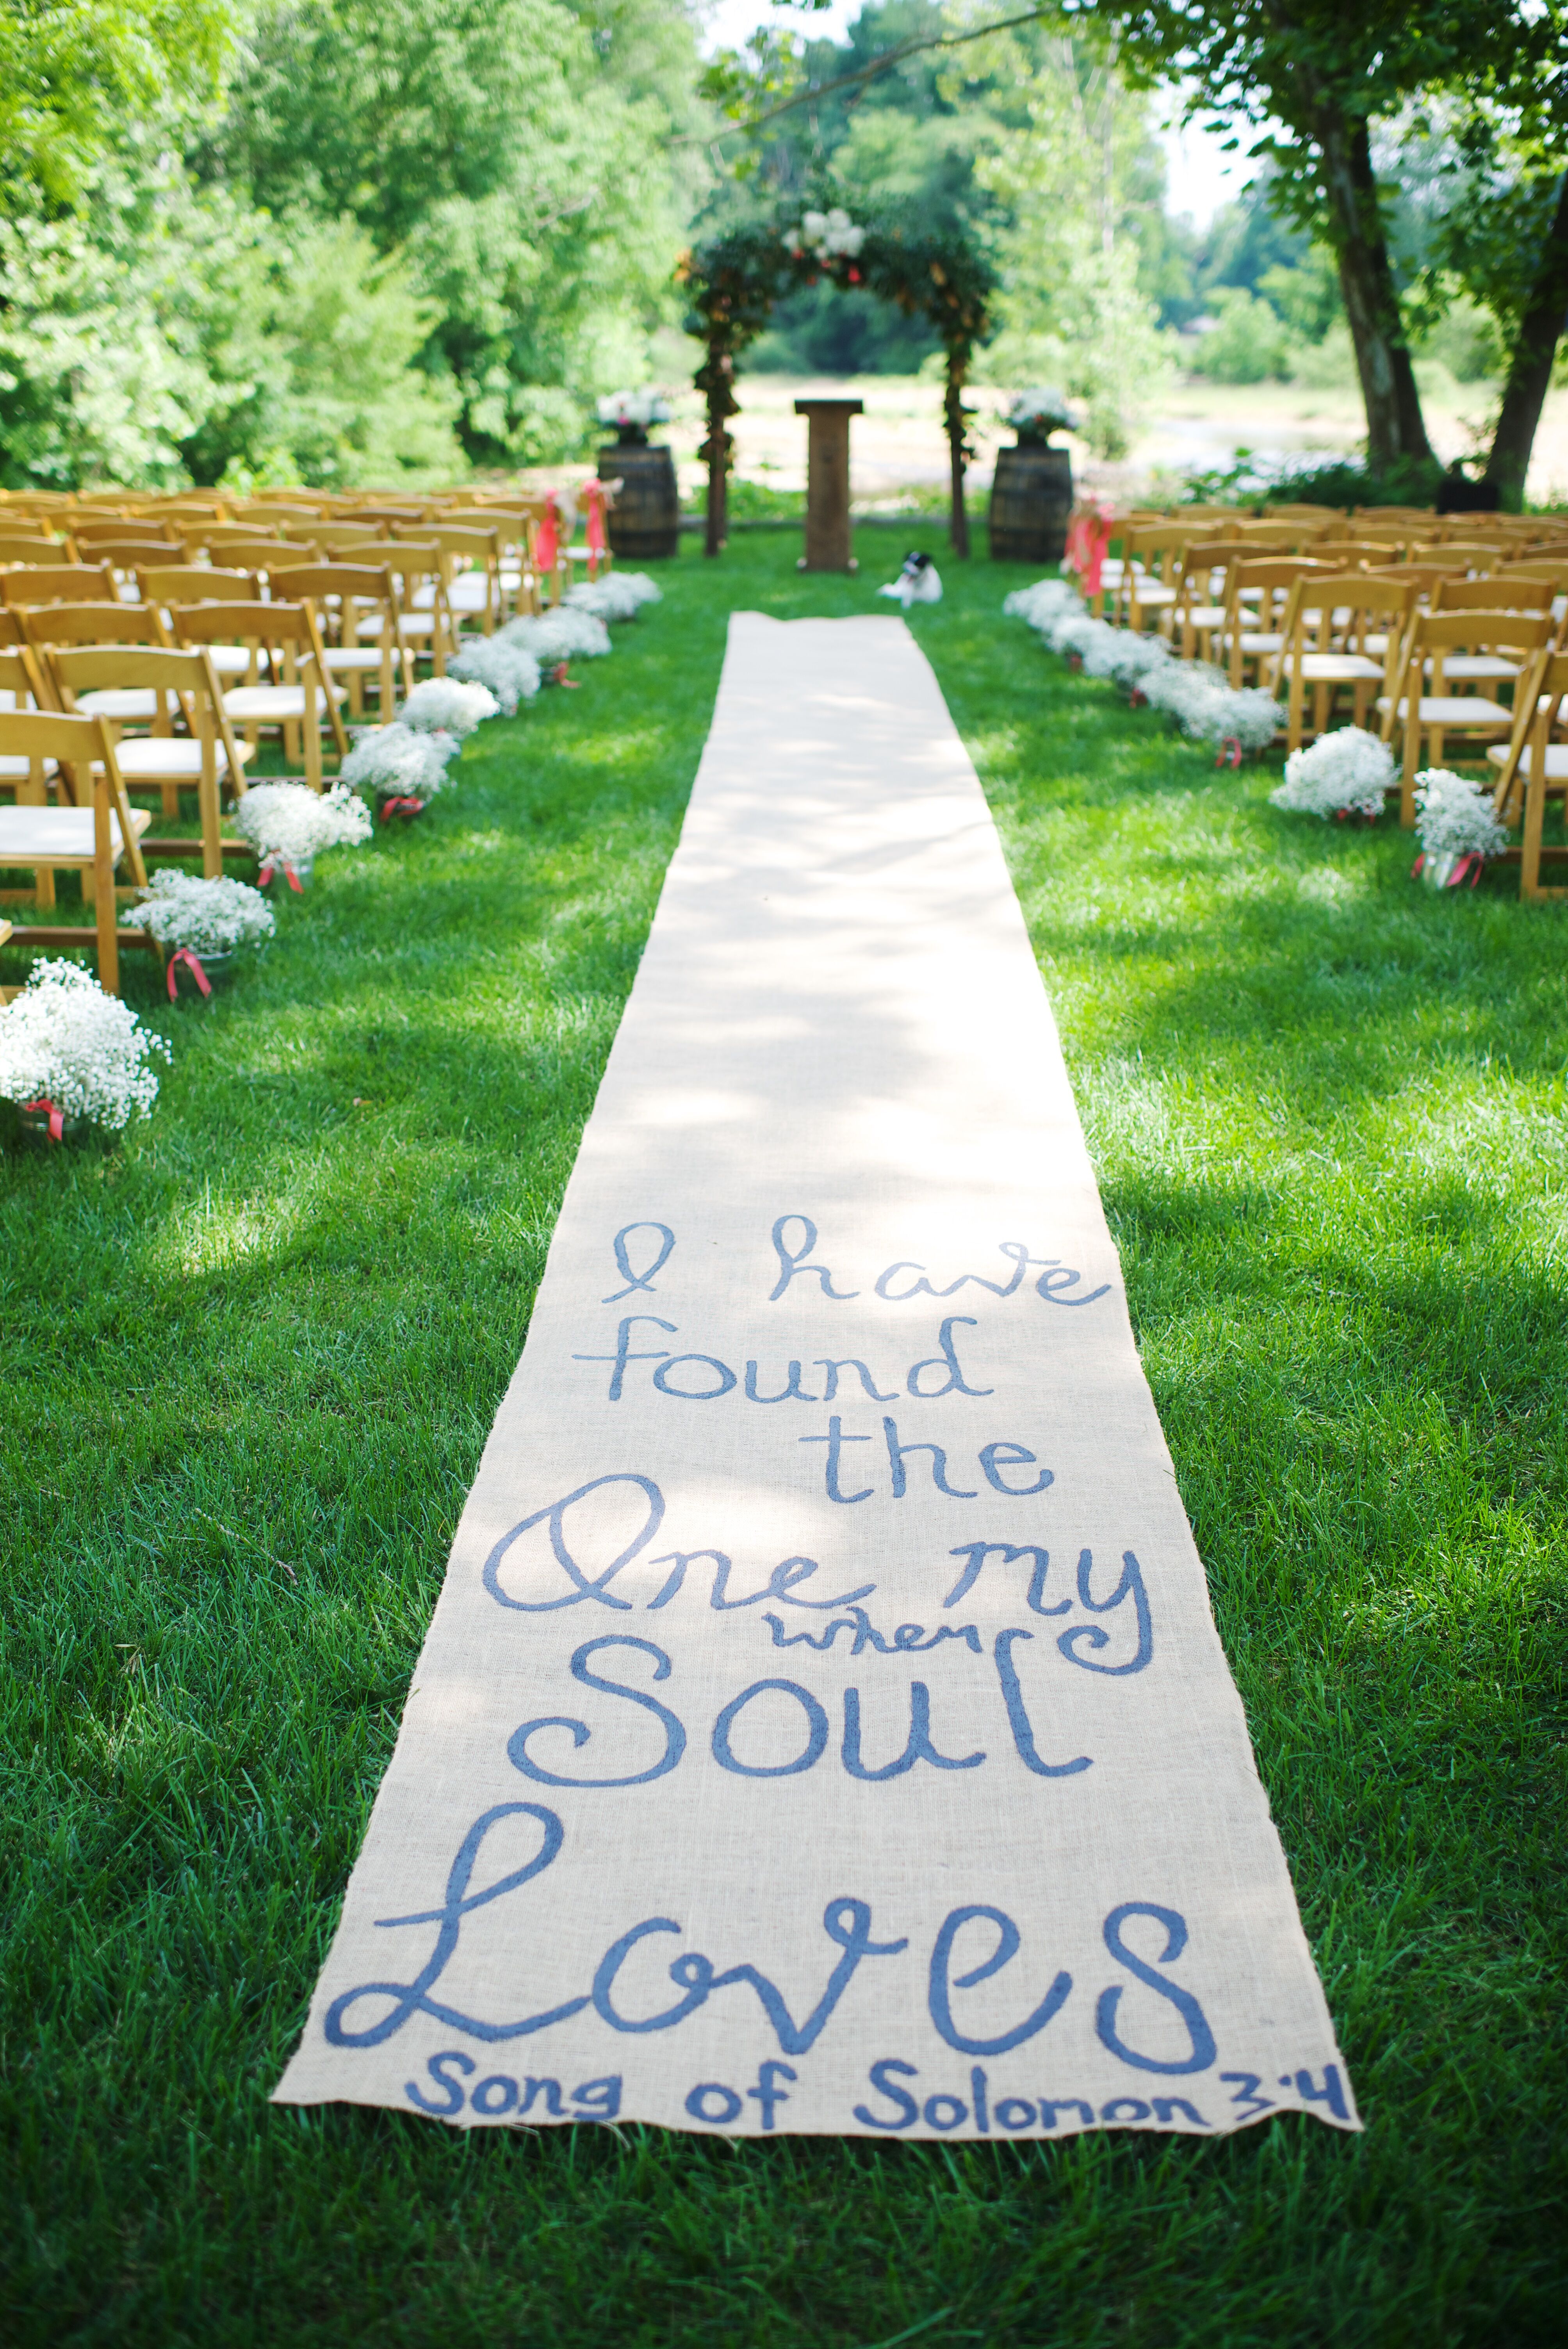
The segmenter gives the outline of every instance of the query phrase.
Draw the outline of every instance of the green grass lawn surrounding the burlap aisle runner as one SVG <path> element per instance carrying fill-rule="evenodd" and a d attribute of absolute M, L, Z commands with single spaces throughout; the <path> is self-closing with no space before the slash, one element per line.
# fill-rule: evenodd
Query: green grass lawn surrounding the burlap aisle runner
<path fill-rule="evenodd" d="M 941 559 L 937 526 L 911 526 Z M 272 2109 L 702 749 L 667 599 L 322 857 L 150 1125 L 0 1109 L 7 2344 L 1563 2340 L 1568 909 L 1411 886 L 915 613 L 1063 1029 L 1366 2135 L 723 2142 Z M 23 970 L 0 951 L 0 982 Z M 1556 2025 L 1556 2027 L 1554 2027 Z M 1556 2314 L 1554 2314 L 1556 2311 Z"/>

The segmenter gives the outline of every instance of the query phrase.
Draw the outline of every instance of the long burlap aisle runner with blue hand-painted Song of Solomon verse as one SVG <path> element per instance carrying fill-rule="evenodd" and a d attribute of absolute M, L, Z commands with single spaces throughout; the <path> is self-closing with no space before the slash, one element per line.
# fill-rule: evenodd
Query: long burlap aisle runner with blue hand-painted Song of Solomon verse
<path fill-rule="evenodd" d="M 1019 902 L 899 620 L 732 620 L 277 2095 L 1357 2126 Z"/>

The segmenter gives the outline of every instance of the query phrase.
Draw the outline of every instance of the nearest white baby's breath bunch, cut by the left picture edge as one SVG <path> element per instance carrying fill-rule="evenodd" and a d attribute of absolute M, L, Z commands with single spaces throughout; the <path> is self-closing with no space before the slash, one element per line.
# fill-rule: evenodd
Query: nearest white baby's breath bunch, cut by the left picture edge
<path fill-rule="evenodd" d="M 47 1111 L 54 1142 L 68 1118 L 117 1135 L 157 1099 L 155 1052 L 171 1057 L 164 1038 L 106 996 L 92 972 L 66 961 L 33 963 L 28 984 L 0 1010 L 0 1099 Z"/>

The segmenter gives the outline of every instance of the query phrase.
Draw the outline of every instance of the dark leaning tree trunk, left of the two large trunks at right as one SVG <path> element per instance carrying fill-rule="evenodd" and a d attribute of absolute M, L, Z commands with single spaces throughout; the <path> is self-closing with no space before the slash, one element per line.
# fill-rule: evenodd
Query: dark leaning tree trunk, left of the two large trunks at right
<path fill-rule="evenodd" d="M 1340 294 L 1366 402 L 1366 458 L 1373 467 L 1399 458 L 1432 458 L 1420 413 L 1415 369 L 1399 319 L 1399 294 L 1387 258 L 1371 136 L 1364 117 L 1319 103 L 1314 139 L 1324 155 L 1324 186 L 1333 214 Z"/>

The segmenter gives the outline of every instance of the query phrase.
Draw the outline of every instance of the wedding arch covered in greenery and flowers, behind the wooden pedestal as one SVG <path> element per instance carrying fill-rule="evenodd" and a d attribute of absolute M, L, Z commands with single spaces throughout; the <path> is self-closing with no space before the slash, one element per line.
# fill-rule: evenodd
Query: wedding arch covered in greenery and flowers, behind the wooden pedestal
<path fill-rule="evenodd" d="M 817 226 L 822 223 L 822 226 Z M 819 280 L 864 287 L 894 301 L 908 317 L 927 317 L 946 352 L 946 395 L 941 404 L 948 437 L 953 517 L 948 538 L 955 554 L 969 552 L 965 514 L 965 463 L 974 453 L 965 432 L 969 409 L 962 404 L 974 345 L 988 324 L 995 275 L 986 256 L 955 228 L 932 230 L 913 216 L 883 214 L 850 223 L 843 211 L 798 214 L 793 221 L 753 221 L 714 237 L 685 254 L 678 270 L 692 315 L 685 331 L 707 345 L 697 369 L 697 390 L 707 397 L 709 432 L 702 456 L 709 467 L 707 552 L 721 554 L 728 531 L 728 482 L 735 437 L 730 416 L 735 397 L 735 362 L 746 343 L 768 324 L 772 305 L 796 287 Z"/>

